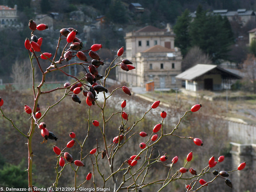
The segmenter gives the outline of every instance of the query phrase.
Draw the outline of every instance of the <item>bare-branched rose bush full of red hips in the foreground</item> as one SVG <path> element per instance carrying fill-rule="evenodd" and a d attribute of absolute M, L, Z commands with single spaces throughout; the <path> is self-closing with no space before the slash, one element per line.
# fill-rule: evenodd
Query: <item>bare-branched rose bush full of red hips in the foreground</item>
<path fill-rule="evenodd" d="M 24 133 L 20 131 L 19 127 L 14 124 L 12 119 L 4 115 L 4 100 L 5 98 L 0 97 L 0 110 L 3 117 L 10 121 L 10 124 L 20 133 L 21 136 L 27 138 L 28 142 L 28 187 L 36 188 L 33 183 L 33 145 L 32 138 L 35 130 L 40 130 L 42 135 L 42 140 L 38 141 L 37 145 L 48 145 L 48 140 L 58 140 L 58 132 L 54 132 L 50 126 L 48 128 L 47 122 L 44 122 L 44 117 L 48 113 L 49 110 L 58 105 L 62 100 L 72 100 L 74 105 L 77 105 L 77 108 L 81 107 L 81 97 L 86 98 L 86 108 L 84 111 L 88 111 L 88 121 L 84 122 L 87 124 L 87 132 L 85 134 L 84 140 L 78 140 L 77 134 L 79 132 L 73 132 L 71 130 L 67 135 L 69 135 L 69 140 L 67 140 L 66 147 L 58 146 L 58 142 L 56 145 L 52 146 L 51 153 L 56 154 L 56 164 L 47 165 L 49 169 L 56 170 L 56 179 L 52 181 L 52 185 L 46 187 L 51 187 L 52 190 L 55 190 L 57 187 L 65 187 L 65 183 L 60 183 L 59 179 L 62 176 L 62 173 L 67 170 L 67 167 L 71 167 L 73 175 L 74 175 L 74 185 L 73 189 L 83 187 L 88 187 L 87 183 L 92 183 L 94 189 L 96 191 L 97 187 L 106 188 L 107 183 L 112 183 L 111 190 L 116 191 L 148 191 L 151 185 L 156 185 L 158 187 L 158 191 L 168 187 L 172 182 L 177 180 L 184 181 L 184 191 L 198 191 L 199 189 L 210 185 L 216 179 L 223 179 L 223 183 L 232 188 L 232 182 L 226 177 L 229 176 L 230 172 L 240 171 L 244 169 L 246 163 L 241 162 L 238 165 L 236 170 L 228 171 L 218 171 L 213 170 L 217 164 L 225 161 L 224 156 L 220 156 L 215 158 L 214 156 L 210 157 L 209 162 L 202 165 L 200 169 L 195 169 L 193 167 L 188 167 L 188 162 L 193 159 L 193 152 L 189 150 L 188 146 L 188 155 L 187 157 L 179 157 L 179 154 L 176 156 L 168 156 L 169 151 L 158 151 L 157 156 L 153 156 L 153 151 L 157 150 L 157 143 L 162 141 L 162 138 L 166 136 L 178 137 L 180 138 L 180 142 L 182 139 L 190 140 L 191 145 L 196 145 L 197 147 L 204 147 L 203 141 L 200 138 L 197 138 L 196 135 L 193 136 L 178 136 L 174 134 L 174 132 L 178 129 L 182 119 L 187 115 L 187 113 L 195 113 L 200 110 L 202 107 L 201 104 L 196 104 L 191 107 L 190 110 L 186 111 L 185 114 L 180 117 L 180 121 L 177 123 L 175 127 L 170 129 L 168 124 L 165 124 L 165 118 L 168 118 L 168 114 L 166 111 L 160 109 L 160 101 L 155 101 L 152 106 L 145 110 L 144 115 L 137 119 L 135 122 L 129 121 L 129 114 L 124 110 L 129 105 L 129 102 L 123 100 L 122 103 L 116 103 L 116 106 L 119 106 L 119 111 L 114 111 L 111 116 L 106 116 L 105 110 L 108 108 L 107 103 L 108 100 L 111 99 L 111 96 L 116 93 L 117 90 L 122 90 L 123 95 L 131 96 L 132 93 L 129 87 L 123 85 L 113 89 L 111 92 L 106 88 L 106 80 L 108 78 L 109 72 L 116 67 L 122 68 L 124 71 L 129 73 L 129 70 L 136 70 L 134 66 L 132 66 L 132 61 L 123 59 L 120 62 L 116 62 L 118 57 L 120 57 L 124 48 L 121 47 L 117 52 L 117 57 L 111 62 L 111 64 L 106 68 L 105 74 L 101 75 L 98 72 L 98 68 L 104 65 L 104 61 L 100 59 L 99 54 L 97 53 L 100 48 L 102 48 L 101 44 L 93 44 L 89 49 L 83 48 L 83 43 L 76 37 L 78 31 L 74 28 L 63 28 L 60 30 L 59 41 L 56 46 L 56 51 L 54 54 L 47 52 L 47 50 L 41 50 L 41 45 L 44 43 L 43 38 L 37 38 L 37 34 L 40 35 L 39 31 L 47 30 L 48 26 L 45 24 L 36 25 L 35 21 L 29 20 L 29 28 L 32 30 L 31 38 L 25 39 L 25 48 L 28 50 L 28 56 L 30 60 L 31 70 L 33 73 L 33 95 L 34 95 L 34 105 L 28 106 L 24 104 L 24 111 L 30 115 L 30 127 L 28 128 L 28 132 Z M 61 48 L 60 42 L 66 42 L 66 45 Z M 58 52 L 61 52 L 61 55 L 58 55 Z M 80 62 L 76 63 L 66 63 L 71 60 L 73 57 L 77 57 Z M 39 67 L 42 80 L 40 84 L 36 84 L 35 82 L 35 67 L 33 60 L 36 60 L 36 65 Z M 41 60 L 48 60 L 49 66 L 46 69 L 43 69 L 40 65 Z M 89 60 L 89 61 L 88 61 Z M 76 76 L 72 76 L 65 72 L 65 68 L 79 65 L 84 69 L 84 76 L 82 78 L 77 78 Z M 45 78 L 49 73 L 61 72 L 64 75 L 71 77 L 75 80 L 74 83 L 65 83 L 63 87 L 57 87 L 55 89 L 49 91 L 42 91 L 42 87 L 45 84 Z M 63 96 L 60 100 L 56 100 L 51 106 L 47 108 L 45 111 L 40 109 L 38 101 L 41 97 L 47 97 L 48 94 L 51 94 L 55 91 L 61 91 Z M 104 100 L 103 102 L 98 102 L 97 97 L 98 94 L 102 92 Z M 1 95 L 0 95 L 1 96 Z M 29 98 L 28 98 L 29 99 Z M 32 99 L 32 98 L 30 98 Z M 95 108 L 99 108 L 101 110 L 101 115 L 98 116 L 99 119 L 92 119 L 90 117 L 90 113 L 95 110 Z M 162 121 L 158 122 L 154 127 L 152 127 L 151 132 L 143 132 L 138 131 L 138 127 L 142 120 L 147 116 L 150 110 L 156 110 L 159 117 L 161 117 Z M 158 112 L 159 111 L 159 112 Z M 76 113 L 75 111 L 70 111 L 70 115 L 72 113 Z M 114 116 L 120 116 L 120 126 L 118 131 L 116 132 L 116 136 L 113 139 L 109 139 L 109 136 L 106 135 L 106 129 L 109 124 L 111 124 L 111 120 Z M 64 117 L 63 117 L 64 118 Z M 100 123 L 101 122 L 101 123 Z M 88 138 L 90 137 L 89 132 L 91 132 L 92 126 L 94 126 L 93 132 L 100 132 L 101 138 L 97 138 L 95 140 L 94 148 L 86 148 Z M 89 131 L 90 130 L 90 131 Z M 168 131 L 169 130 L 169 131 Z M 170 131 L 171 130 L 171 131 Z M 122 154 L 124 150 L 126 150 L 126 146 L 128 144 L 132 145 L 133 139 L 140 140 L 140 145 L 136 146 L 138 148 L 138 153 L 130 154 L 130 156 L 125 157 L 122 162 L 116 163 L 116 156 Z M 143 141 L 143 142 L 142 142 Z M 170 141 L 171 142 L 171 141 Z M 77 154 L 70 154 L 67 152 L 68 148 L 73 148 L 74 146 L 78 146 L 80 150 L 77 151 L 79 154 L 79 158 L 75 159 L 73 156 L 77 156 Z M 49 152 L 50 153 L 50 152 Z M 45 157 L 47 158 L 47 156 Z M 78 182 L 77 177 L 79 171 L 84 169 L 85 164 L 84 161 L 88 160 L 91 162 L 91 167 L 87 170 L 87 174 L 84 176 L 83 182 Z M 182 167 L 177 167 L 175 164 L 180 161 L 184 161 L 186 159 L 186 163 Z M 101 161 L 104 161 L 106 166 L 103 168 L 99 165 Z M 115 163 L 114 163 L 115 162 Z M 149 170 L 155 165 L 160 165 L 162 167 L 168 167 L 169 172 L 167 176 L 162 176 L 157 180 L 151 180 L 148 177 Z M 87 166 L 88 167 L 88 166 Z M 109 169 L 109 174 L 104 174 L 103 169 Z M 122 175 L 122 178 L 118 178 L 117 175 Z M 210 180 L 205 178 L 205 174 L 210 174 Z M 95 182 L 95 178 L 101 178 L 102 182 Z M 207 177 L 209 178 L 209 177 Z M 45 185 L 45 184 L 44 184 Z M 165 189 L 164 189 L 165 190 Z"/>

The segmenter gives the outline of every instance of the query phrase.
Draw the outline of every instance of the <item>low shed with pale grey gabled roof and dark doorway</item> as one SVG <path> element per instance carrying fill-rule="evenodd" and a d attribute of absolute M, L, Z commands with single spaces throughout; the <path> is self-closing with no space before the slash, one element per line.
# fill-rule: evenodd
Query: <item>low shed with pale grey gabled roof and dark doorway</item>
<path fill-rule="evenodd" d="M 219 91 L 230 89 L 232 80 L 242 79 L 235 73 L 217 65 L 197 64 L 176 76 L 177 81 L 186 82 L 186 90 Z"/>

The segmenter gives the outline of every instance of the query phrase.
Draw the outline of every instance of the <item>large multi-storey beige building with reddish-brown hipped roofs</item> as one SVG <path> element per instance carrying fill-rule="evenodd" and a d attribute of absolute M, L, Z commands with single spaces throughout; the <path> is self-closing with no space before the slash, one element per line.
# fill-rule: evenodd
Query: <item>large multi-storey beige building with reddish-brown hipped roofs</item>
<path fill-rule="evenodd" d="M 175 76 L 181 73 L 181 53 L 174 48 L 172 30 L 147 26 L 126 33 L 126 52 L 120 59 L 129 59 L 136 69 L 117 68 L 116 78 L 130 86 L 145 87 L 154 81 L 155 88 L 175 88 Z"/>

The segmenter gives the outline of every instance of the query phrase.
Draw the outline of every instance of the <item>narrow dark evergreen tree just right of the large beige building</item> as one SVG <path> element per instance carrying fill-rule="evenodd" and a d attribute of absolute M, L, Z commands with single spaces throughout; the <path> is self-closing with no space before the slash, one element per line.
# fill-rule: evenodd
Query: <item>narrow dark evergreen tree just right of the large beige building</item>
<path fill-rule="evenodd" d="M 174 43 L 175 46 L 180 48 L 183 57 L 187 54 L 190 47 L 189 25 L 191 17 L 189 13 L 189 10 L 186 9 L 182 15 L 178 17 L 176 25 L 173 27 L 173 31 L 176 34 Z"/>

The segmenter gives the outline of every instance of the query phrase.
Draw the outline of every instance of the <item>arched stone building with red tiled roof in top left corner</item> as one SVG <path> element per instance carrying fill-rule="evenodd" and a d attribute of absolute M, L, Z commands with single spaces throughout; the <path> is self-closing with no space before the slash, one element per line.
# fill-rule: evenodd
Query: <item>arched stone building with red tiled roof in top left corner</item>
<path fill-rule="evenodd" d="M 22 24 L 18 23 L 17 5 L 14 8 L 0 5 L 0 28 L 7 26 L 22 27 Z"/>

